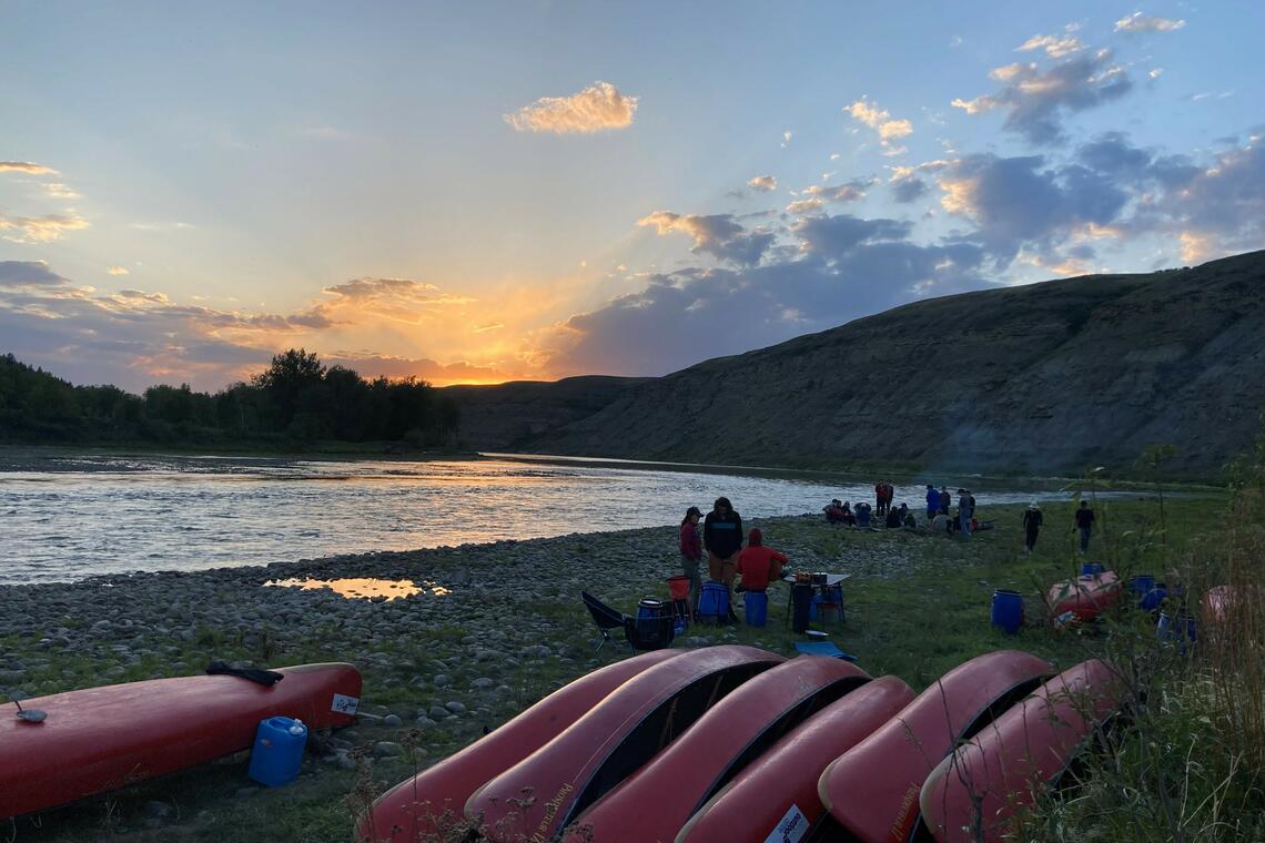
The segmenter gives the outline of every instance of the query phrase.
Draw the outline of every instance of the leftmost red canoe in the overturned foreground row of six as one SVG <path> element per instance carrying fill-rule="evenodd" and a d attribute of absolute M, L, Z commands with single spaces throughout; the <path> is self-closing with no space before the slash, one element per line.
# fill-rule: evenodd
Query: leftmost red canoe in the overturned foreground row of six
<path fill-rule="evenodd" d="M 466 800 L 488 779 L 552 741 L 627 680 L 682 652 L 641 653 L 558 689 L 491 734 L 379 796 L 361 818 L 358 839 L 363 843 L 415 843 L 430 835 L 443 838 L 464 823 Z"/>

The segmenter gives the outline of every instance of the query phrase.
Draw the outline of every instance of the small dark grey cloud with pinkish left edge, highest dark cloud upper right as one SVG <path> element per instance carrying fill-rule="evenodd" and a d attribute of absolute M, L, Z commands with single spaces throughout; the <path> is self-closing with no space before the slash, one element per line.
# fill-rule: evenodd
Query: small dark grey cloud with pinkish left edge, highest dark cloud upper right
<path fill-rule="evenodd" d="M 1055 144 L 1064 139 L 1064 114 L 1084 111 L 1127 94 L 1133 83 L 1123 67 L 1112 61 L 1111 51 L 1077 54 L 1049 70 L 1035 63 L 1008 64 L 990 76 L 1003 87 L 973 100 L 954 100 L 966 114 L 994 109 L 1006 111 L 1003 129 L 1023 135 L 1034 144 Z"/>

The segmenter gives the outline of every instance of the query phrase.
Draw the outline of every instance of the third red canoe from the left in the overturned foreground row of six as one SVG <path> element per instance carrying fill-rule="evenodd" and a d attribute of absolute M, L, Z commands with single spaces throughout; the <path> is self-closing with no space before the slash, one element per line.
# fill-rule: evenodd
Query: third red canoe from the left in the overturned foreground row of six
<path fill-rule="evenodd" d="M 810 714 L 868 681 L 861 669 L 820 656 L 799 656 L 748 680 L 581 814 L 567 840 L 676 839 L 743 767 Z"/>

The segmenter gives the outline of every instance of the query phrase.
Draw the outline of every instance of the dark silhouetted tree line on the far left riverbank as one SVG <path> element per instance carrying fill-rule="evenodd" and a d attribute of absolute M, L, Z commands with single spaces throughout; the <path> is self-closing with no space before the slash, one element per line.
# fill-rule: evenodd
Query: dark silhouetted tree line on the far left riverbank
<path fill-rule="evenodd" d="M 113 385 L 77 387 L 0 356 L 0 441 L 244 445 L 455 442 L 457 403 L 425 380 L 366 379 L 290 349 L 248 383 L 209 394 L 187 383 L 134 396 Z"/>

